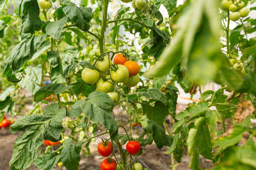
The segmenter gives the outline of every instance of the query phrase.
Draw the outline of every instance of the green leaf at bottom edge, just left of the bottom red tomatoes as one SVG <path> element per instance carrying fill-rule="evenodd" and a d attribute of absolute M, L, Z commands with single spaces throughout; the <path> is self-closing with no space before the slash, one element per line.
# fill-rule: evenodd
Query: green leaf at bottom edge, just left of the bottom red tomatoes
<path fill-rule="evenodd" d="M 79 141 L 76 145 L 72 145 L 71 141 L 67 139 L 64 143 L 63 150 L 61 150 L 61 162 L 68 170 L 78 170 L 82 142 Z"/>

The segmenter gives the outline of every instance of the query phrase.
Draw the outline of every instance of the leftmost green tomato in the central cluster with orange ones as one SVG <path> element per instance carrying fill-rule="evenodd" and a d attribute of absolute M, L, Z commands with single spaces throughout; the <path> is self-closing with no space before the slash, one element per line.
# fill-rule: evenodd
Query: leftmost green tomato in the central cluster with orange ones
<path fill-rule="evenodd" d="M 85 83 L 95 84 L 99 80 L 100 74 L 97 70 L 85 68 L 83 69 L 81 76 Z"/>

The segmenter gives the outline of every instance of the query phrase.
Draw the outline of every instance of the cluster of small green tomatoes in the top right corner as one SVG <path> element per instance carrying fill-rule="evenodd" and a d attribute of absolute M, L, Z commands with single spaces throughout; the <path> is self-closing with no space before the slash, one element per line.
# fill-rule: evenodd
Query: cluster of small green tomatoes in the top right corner
<path fill-rule="evenodd" d="M 240 17 L 246 17 L 250 12 L 247 7 L 244 7 L 244 2 L 241 0 L 235 0 L 234 3 L 231 0 L 222 0 L 220 8 L 232 11 L 229 15 L 232 21 L 239 20 Z"/>

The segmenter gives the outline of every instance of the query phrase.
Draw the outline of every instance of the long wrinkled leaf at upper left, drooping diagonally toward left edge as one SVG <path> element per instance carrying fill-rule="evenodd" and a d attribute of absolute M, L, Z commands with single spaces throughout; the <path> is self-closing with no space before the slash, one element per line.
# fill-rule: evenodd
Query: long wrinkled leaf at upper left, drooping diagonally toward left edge
<path fill-rule="evenodd" d="M 36 51 L 42 46 L 47 35 L 40 36 L 28 36 L 16 45 L 10 52 L 9 57 L 4 60 L 3 70 L 4 75 L 15 74 L 20 67 L 36 53 Z"/>

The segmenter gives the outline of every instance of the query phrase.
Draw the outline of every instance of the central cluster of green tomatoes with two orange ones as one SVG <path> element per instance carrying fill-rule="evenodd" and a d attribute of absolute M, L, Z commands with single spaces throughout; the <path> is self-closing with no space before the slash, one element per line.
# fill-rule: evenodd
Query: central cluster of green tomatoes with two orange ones
<path fill-rule="evenodd" d="M 122 54 L 114 57 L 113 64 L 111 64 L 109 56 L 105 55 L 97 60 L 95 67 L 96 69 L 87 67 L 83 69 L 81 73 L 83 81 L 88 84 L 97 83 L 97 90 L 107 93 L 114 103 L 119 101 L 118 93 L 111 92 L 115 87 L 115 82 L 124 83 L 127 87 L 134 87 L 140 81 L 139 64 L 128 60 Z"/>

